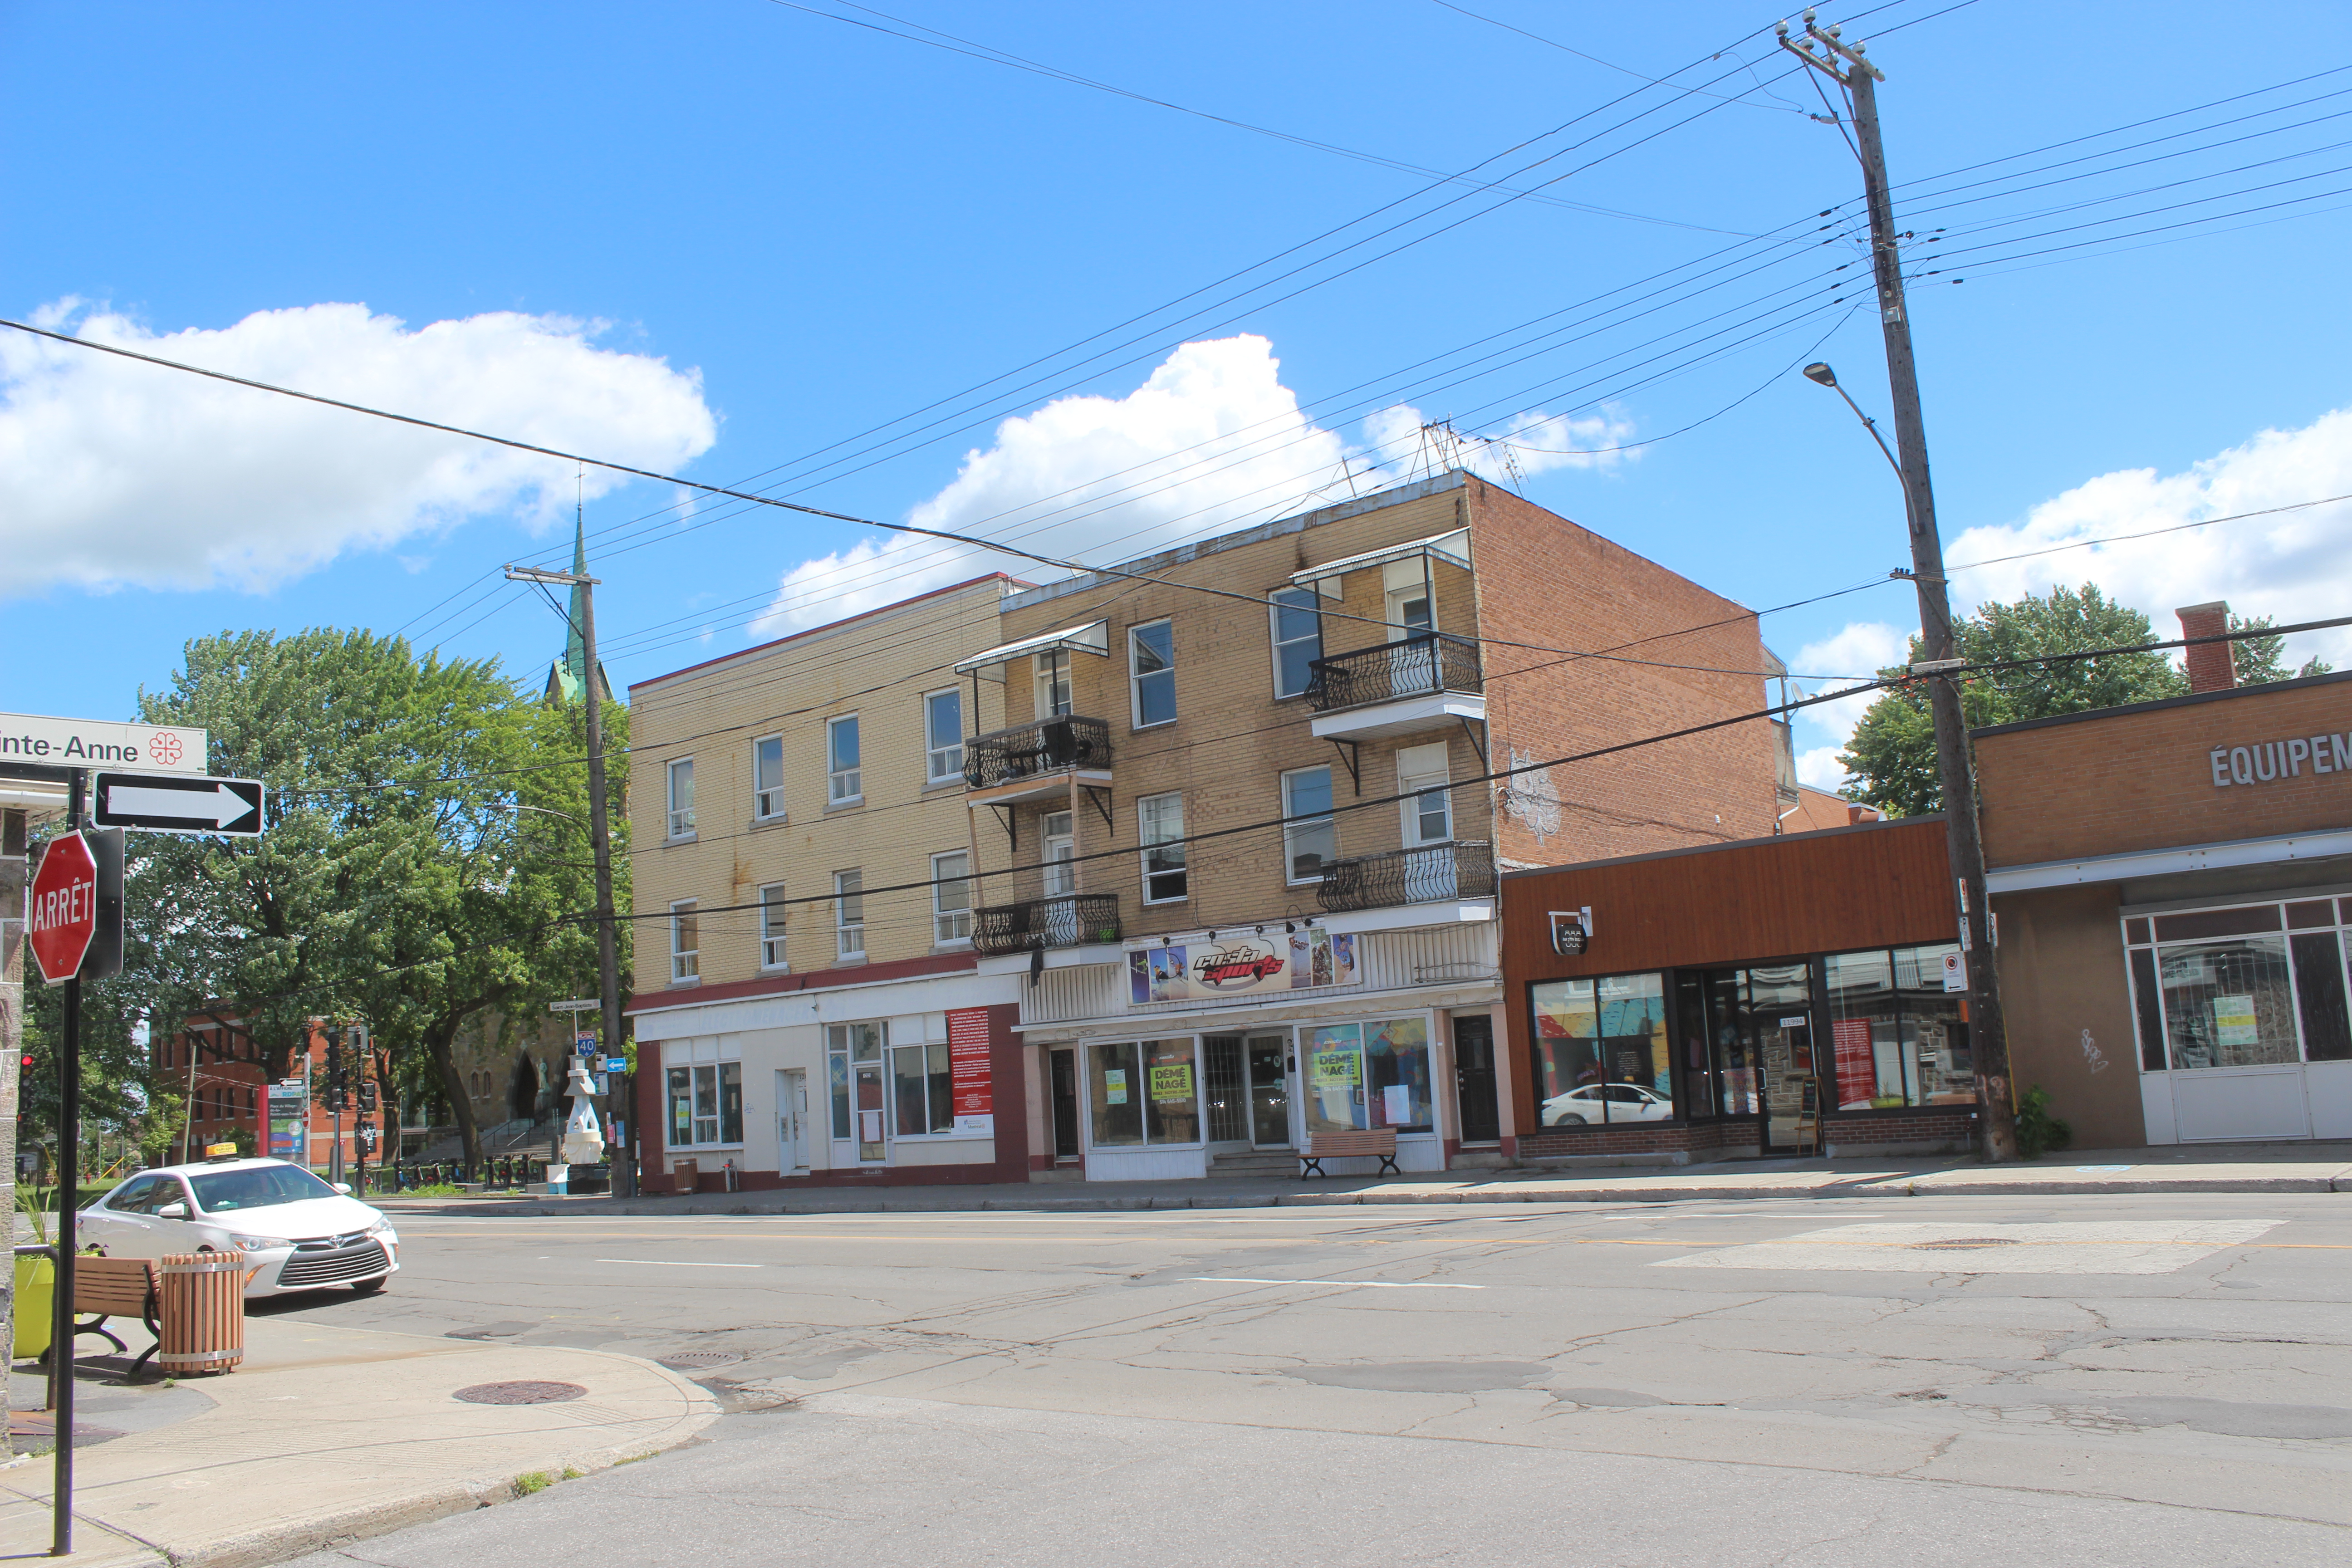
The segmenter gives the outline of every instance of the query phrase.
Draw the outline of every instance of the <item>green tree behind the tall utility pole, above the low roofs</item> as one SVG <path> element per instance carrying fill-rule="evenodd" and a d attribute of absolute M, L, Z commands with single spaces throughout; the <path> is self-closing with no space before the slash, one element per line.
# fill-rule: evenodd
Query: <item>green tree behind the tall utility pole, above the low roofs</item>
<path fill-rule="evenodd" d="M 2046 597 L 2025 595 L 2016 604 L 1980 604 L 1973 616 L 1952 628 L 1957 654 L 1969 663 L 1999 663 L 2077 654 L 2082 649 L 2131 649 L 2154 642 L 2147 616 L 2100 595 L 2093 583 L 2053 588 Z M 1924 658 L 1919 639 L 1910 639 L 1905 668 L 1879 670 L 1903 677 Z M 2018 724 L 2089 708 L 2117 708 L 2183 696 L 2187 675 L 2161 651 L 2124 651 L 2100 658 L 2018 665 L 1966 677 L 1959 710 L 1969 729 Z M 1929 715 L 1926 686 L 1905 682 L 1870 705 L 1853 726 L 1853 741 L 1837 759 L 1846 769 L 1846 790 L 1889 816 L 1943 811 L 1943 785 L 1936 778 L 1936 724 Z"/>

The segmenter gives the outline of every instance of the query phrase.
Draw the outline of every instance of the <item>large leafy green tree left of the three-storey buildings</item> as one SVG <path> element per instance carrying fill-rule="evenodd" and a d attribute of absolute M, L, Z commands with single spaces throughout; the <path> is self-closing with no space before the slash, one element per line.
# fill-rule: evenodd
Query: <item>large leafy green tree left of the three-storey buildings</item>
<path fill-rule="evenodd" d="M 588 816 L 579 712 L 496 661 L 303 630 L 191 642 L 141 717 L 207 729 L 216 773 L 270 785 L 259 839 L 134 835 L 125 973 L 155 1027 L 235 1016 L 285 1077 L 313 1023 L 365 1018 L 397 1077 L 445 1088 L 477 1154 L 449 1041 L 595 973 L 586 825 L 548 827 Z M 626 745 L 626 724 L 607 736 Z"/>

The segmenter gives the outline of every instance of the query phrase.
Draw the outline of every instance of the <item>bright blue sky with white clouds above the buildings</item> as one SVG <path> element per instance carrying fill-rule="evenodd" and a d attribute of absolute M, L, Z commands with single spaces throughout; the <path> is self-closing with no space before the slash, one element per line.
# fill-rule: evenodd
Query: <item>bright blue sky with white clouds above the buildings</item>
<path fill-rule="evenodd" d="M 2331 150 L 2352 143 L 2352 118 L 2333 118 L 2352 110 L 2352 73 L 2281 87 L 2352 66 L 2352 12 L 1947 5 L 1898 0 L 1849 33 L 1872 38 L 1889 73 L 1896 179 L 1924 181 L 1898 216 L 1938 207 L 1955 249 L 2082 247 L 1990 266 L 2006 252 L 1973 249 L 1947 268 L 1966 282 L 1917 287 L 1952 557 L 2352 491 L 2352 423 L 2328 421 L 2352 404 L 2352 174 L 2328 174 L 2352 167 Z M 14 5 L 0 14 L 14 197 L 0 308 L 708 482 L 783 477 L 779 494 L 851 515 L 1051 522 L 1037 545 L 1084 559 L 1345 494 L 1341 461 L 1357 484 L 1402 477 L 1418 423 L 1451 416 L 1517 433 L 1531 498 L 1752 607 L 1903 564 L 1893 477 L 1835 397 L 1788 369 L 1818 343 L 1886 409 L 1870 310 L 1828 303 L 1825 259 L 1858 256 L 1842 219 L 1825 244 L 1795 240 L 1851 202 L 1858 176 L 1839 129 L 1806 118 L 1823 110 L 1813 89 L 1780 78 L 1769 33 L 1755 35 L 1771 14 L 1468 12 Z M 1677 96 L 1686 87 L 1719 96 Z M 2178 115 L 2237 94 L 2253 96 Z M 2176 118 L 2110 134 L 2157 115 Z M 1430 181 L 1388 167 L 1465 169 L 1571 120 L 1482 174 L 1550 158 L 1510 176 L 1524 188 L 1599 160 L 1536 197 L 1416 197 Z M 955 418 L 870 454 L 882 461 L 807 458 L 1390 202 L 1406 207 L 1383 221 L 1451 197 L 1291 284 L 1148 317 L 1105 339 L 1136 341 L 1101 362 L 1049 360 L 995 397 L 950 402 Z M 2084 228 L 2096 219 L 2114 221 Z M 2138 233 L 2171 223 L 2190 228 Z M 1778 270 L 1738 273 L 1740 289 L 1592 320 L 1573 346 L 1484 378 L 1395 374 L 1545 313 L 1585 320 L 1578 301 L 1708 254 L 1755 261 L 1769 244 L 1755 235 L 1773 233 Z M 1406 237 L 1421 240 L 1381 254 Z M 1926 270 L 1926 247 L 1915 254 Z M 1778 317 L 1759 320 L 1769 301 L 1731 310 L 1771 289 Z M 1722 339 L 1731 353 L 1632 369 L 1675 343 L 1689 360 L 1731 322 L 1745 322 Z M 1661 334 L 1682 336 L 1651 343 Z M 494 585 L 494 569 L 567 550 L 569 473 L 5 336 L 0 708 L 125 715 L 183 639 L 223 628 L 407 628 L 513 668 L 560 646 L 548 609 Z M 1000 428 L 1007 416 L 1018 423 Z M 1263 430 L 1284 437 L 1232 461 Z M 1169 456 L 1202 442 L 1223 456 Z M 1637 447 L 1552 454 L 1623 444 Z M 1468 454 L 1494 465 L 1498 449 Z M 1103 475 L 1136 465 L 1143 484 L 1098 496 Z M 1089 484 L 1084 515 L 1037 510 Z M 663 510 L 675 501 L 640 482 L 586 505 L 607 531 L 593 550 L 621 682 L 971 564 L 875 555 L 870 531 L 764 508 Z M 2347 534 L 2352 508 L 2307 508 L 1964 574 L 1955 592 L 2096 576 L 2159 611 L 2164 635 L 2161 611 L 2216 595 L 2324 616 L 2343 602 Z M 1907 592 L 1877 588 L 1771 616 L 1766 639 L 1809 672 L 1860 672 L 1905 625 Z M 2352 651 L 2312 646 L 2338 663 Z M 1835 722 L 1804 741 L 1813 776 Z"/>

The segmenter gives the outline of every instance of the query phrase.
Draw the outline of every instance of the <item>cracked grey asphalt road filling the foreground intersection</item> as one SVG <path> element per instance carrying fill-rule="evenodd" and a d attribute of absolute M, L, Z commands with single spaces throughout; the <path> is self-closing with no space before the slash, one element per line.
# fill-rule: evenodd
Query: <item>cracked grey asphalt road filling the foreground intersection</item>
<path fill-rule="evenodd" d="M 699 1356 L 327 1563 L 2343 1563 L 2352 1199 L 402 1218 L 273 1312 Z"/>

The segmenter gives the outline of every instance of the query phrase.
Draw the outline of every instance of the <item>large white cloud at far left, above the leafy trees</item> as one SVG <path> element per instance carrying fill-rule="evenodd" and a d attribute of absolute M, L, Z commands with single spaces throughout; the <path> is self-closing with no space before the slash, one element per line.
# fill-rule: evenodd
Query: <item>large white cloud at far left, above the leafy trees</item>
<path fill-rule="evenodd" d="M 642 468 L 675 468 L 717 440 L 694 371 L 597 348 L 600 324 L 555 315 L 501 310 L 409 331 L 367 306 L 329 303 L 151 334 L 59 301 L 35 320 Z M 590 468 L 586 494 L 614 484 Z M 12 592 L 266 590 L 346 550 L 383 550 L 482 512 L 546 527 L 572 496 L 572 463 L 0 331 L 0 548 Z"/>

